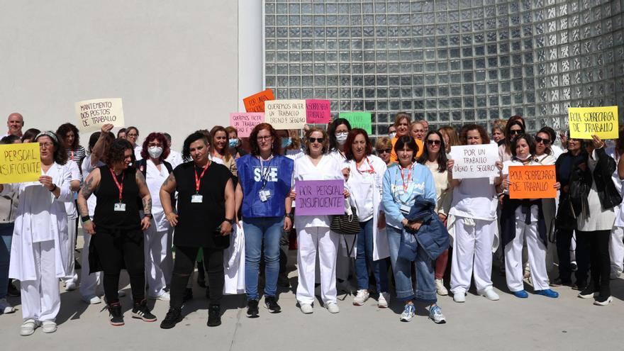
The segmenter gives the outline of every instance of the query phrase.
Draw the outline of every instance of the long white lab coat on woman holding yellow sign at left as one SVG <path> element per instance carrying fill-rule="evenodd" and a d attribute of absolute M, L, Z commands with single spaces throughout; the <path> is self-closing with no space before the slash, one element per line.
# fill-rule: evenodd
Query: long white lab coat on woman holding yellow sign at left
<path fill-rule="evenodd" d="M 42 175 L 43 170 L 41 172 Z M 9 277 L 22 282 L 38 279 L 38 267 L 35 265 L 35 252 L 33 243 L 39 242 L 38 236 L 43 236 L 45 241 L 54 241 L 55 247 L 55 275 L 57 278 L 66 277 L 67 267 L 67 212 L 65 202 L 73 201 L 72 191 L 69 189 L 71 172 L 67 165 L 58 165 L 56 162 L 48 169 L 48 176 L 60 189 L 58 199 L 45 189 L 39 182 L 4 184 L 0 194 L 9 194 L 18 191 L 21 200 L 15 218 L 13 230 L 13 244 L 11 245 L 11 263 Z M 43 191 L 42 191 L 43 190 Z M 33 223 L 30 208 L 35 201 L 50 201 L 50 224 L 48 228 L 38 228 Z M 47 233 L 46 233 L 47 232 Z M 42 233 L 43 235 L 39 235 Z M 48 234 L 49 233 L 49 234 Z M 50 238 L 50 240 L 47 240 Z"/>

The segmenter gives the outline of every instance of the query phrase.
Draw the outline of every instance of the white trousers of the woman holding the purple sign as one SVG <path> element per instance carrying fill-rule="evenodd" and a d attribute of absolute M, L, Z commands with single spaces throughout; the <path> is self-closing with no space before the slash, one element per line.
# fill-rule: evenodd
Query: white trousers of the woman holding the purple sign
<path fill-rule="evenodd" d="M 297 230 L 299 285 L 296 295 L 299 303 L 314 302 L 314 267 L 317 251 L 321 266 L 321 300 L 323 303 L 336 302 L 338 238 L 338 234 L 324 227 Z"/>

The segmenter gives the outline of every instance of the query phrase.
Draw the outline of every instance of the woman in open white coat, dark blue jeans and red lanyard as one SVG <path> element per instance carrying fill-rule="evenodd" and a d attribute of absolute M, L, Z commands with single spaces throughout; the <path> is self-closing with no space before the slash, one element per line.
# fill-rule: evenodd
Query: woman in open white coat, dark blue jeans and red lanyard
<path fill-rule="evenodd" d="M 354 128 L 347 137 L 347 189 L 350 190 L 350 202 L 355 206 L 360 219 L 360 233 L 357 234 L 355 247 L 355 275 L 357 294 L 353 299 L 355 306 L 362 306 L 369 299 L 368 266 L 377 282 L 377 306 L 388 307 L 390 294 L 388 275 L 384 258 L 390 256 L 386 235 L 386 217 L 381 206 L 386 162 L 372 155 L 373 145 L 364 129 Z"/>

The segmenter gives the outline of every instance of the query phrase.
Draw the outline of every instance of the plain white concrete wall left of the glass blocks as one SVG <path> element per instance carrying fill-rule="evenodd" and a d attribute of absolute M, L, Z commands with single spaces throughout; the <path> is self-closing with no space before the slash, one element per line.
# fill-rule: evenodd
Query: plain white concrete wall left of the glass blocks
<path fill-rule="evenodd" d="M 121 97 L 128 126 L 179 149 L 238 111 L 238 1 L 0 0 L 0 13 L 3 129 L 13 111 L 24 130 L 56 129 L 77 124 L 76 101 Z"/>

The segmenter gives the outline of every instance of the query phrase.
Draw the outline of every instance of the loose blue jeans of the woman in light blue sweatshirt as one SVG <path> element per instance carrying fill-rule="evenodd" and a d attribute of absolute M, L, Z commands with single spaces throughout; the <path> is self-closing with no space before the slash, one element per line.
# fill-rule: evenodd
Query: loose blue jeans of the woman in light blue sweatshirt
<path fill-rule="evenodd" d="M 435 268 L 433 261 L 429 259 L 425 250 L 418 245 L 416 251 L 416 294 L 412 288 L 411 267 L 412 262 L 399 258 L 399 246 L 403 230 L 386 226 L 388 233 L 388 245 L 390 248 L 390 262 L 392 272 L 394 272 L 394 282 L 396 285 L 396 297 L 401 301 L 416 299 L 426 303 L 435 303 L 438 298 L 435 296 Z"/>

